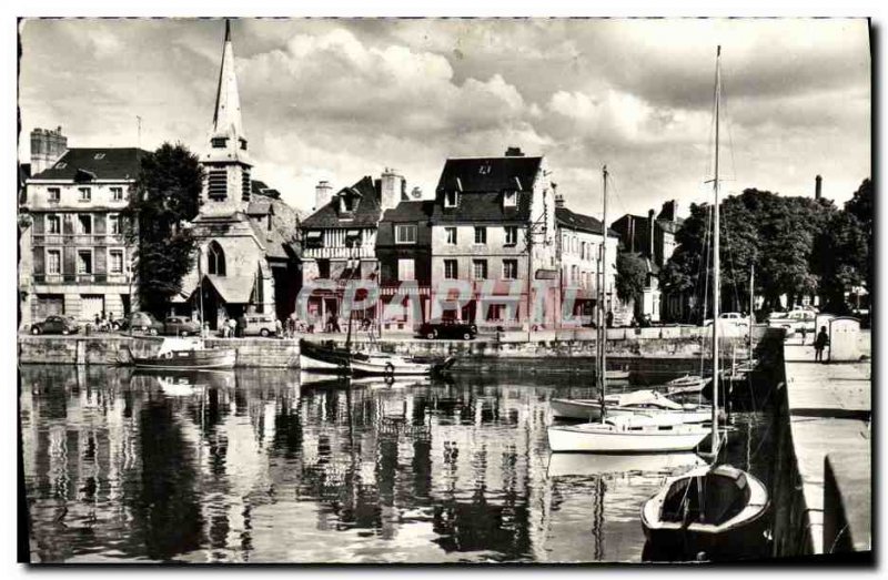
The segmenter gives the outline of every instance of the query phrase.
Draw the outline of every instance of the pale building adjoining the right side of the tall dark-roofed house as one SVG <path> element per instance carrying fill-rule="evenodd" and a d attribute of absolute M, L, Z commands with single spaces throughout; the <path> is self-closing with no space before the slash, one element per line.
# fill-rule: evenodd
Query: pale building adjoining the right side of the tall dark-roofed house
<path fill-rule="evenodd" d="M 574 301 L 574 308 L 569 314 L 594 320 L 601 275 L 604 269 L 602 264 L 604 227 L 599 220 L 565 207 L 561 195 L 555 196 L 555 218 L 558 226 L 562 296 L 564 299 L 572 297 Z M 619 236 L 609 230 L 604 257 L 608 267 L 605 312 L 613 312 L 618 306 L 615 289 L 618 245 Z"/>

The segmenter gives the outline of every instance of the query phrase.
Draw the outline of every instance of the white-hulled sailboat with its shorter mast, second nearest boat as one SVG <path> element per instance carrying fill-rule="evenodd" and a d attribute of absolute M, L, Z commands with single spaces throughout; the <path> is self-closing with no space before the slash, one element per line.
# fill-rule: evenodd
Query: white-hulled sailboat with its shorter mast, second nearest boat
<path fill-rule="evenodd" d="M 602 454 L 689 451 L 705 439 L 709 431 L 699 424 L 686 424 L 675 414 L 615 413 L 608 415 L 607 405 L 607 330 L 605 329 L 605 284 L 607 281 L 607 166 L 603 167 L 604 210 L 602 223 L 602 283 L 598 284 L 598 420 L 581 425 L 552 425 L 546 430 L 553 451 L 585 451 Z M 617 405 L 618 406 L 618 405 Z M 613 407 L 613 405 L 612 405 Z M 628 410 L 628 409 L 627 409 Z"/>

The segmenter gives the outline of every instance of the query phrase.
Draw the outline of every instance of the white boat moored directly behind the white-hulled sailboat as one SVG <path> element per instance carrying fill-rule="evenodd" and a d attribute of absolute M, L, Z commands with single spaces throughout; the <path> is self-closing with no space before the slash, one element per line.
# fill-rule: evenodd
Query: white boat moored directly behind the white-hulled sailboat
<path fill-rule="evenodd" d="M 602 417 L 602 407 L 595 399 L 555 398 L 549 401 L 555 417 L 595 420 Z M 708 406 L 682 404 L 669 399 L 656 390 L 634 390 L 622 395 L 605 397 L 607 415 L 657 414 L 668 415 L 678 423 L 705 423 L 712 418 Z"/>

